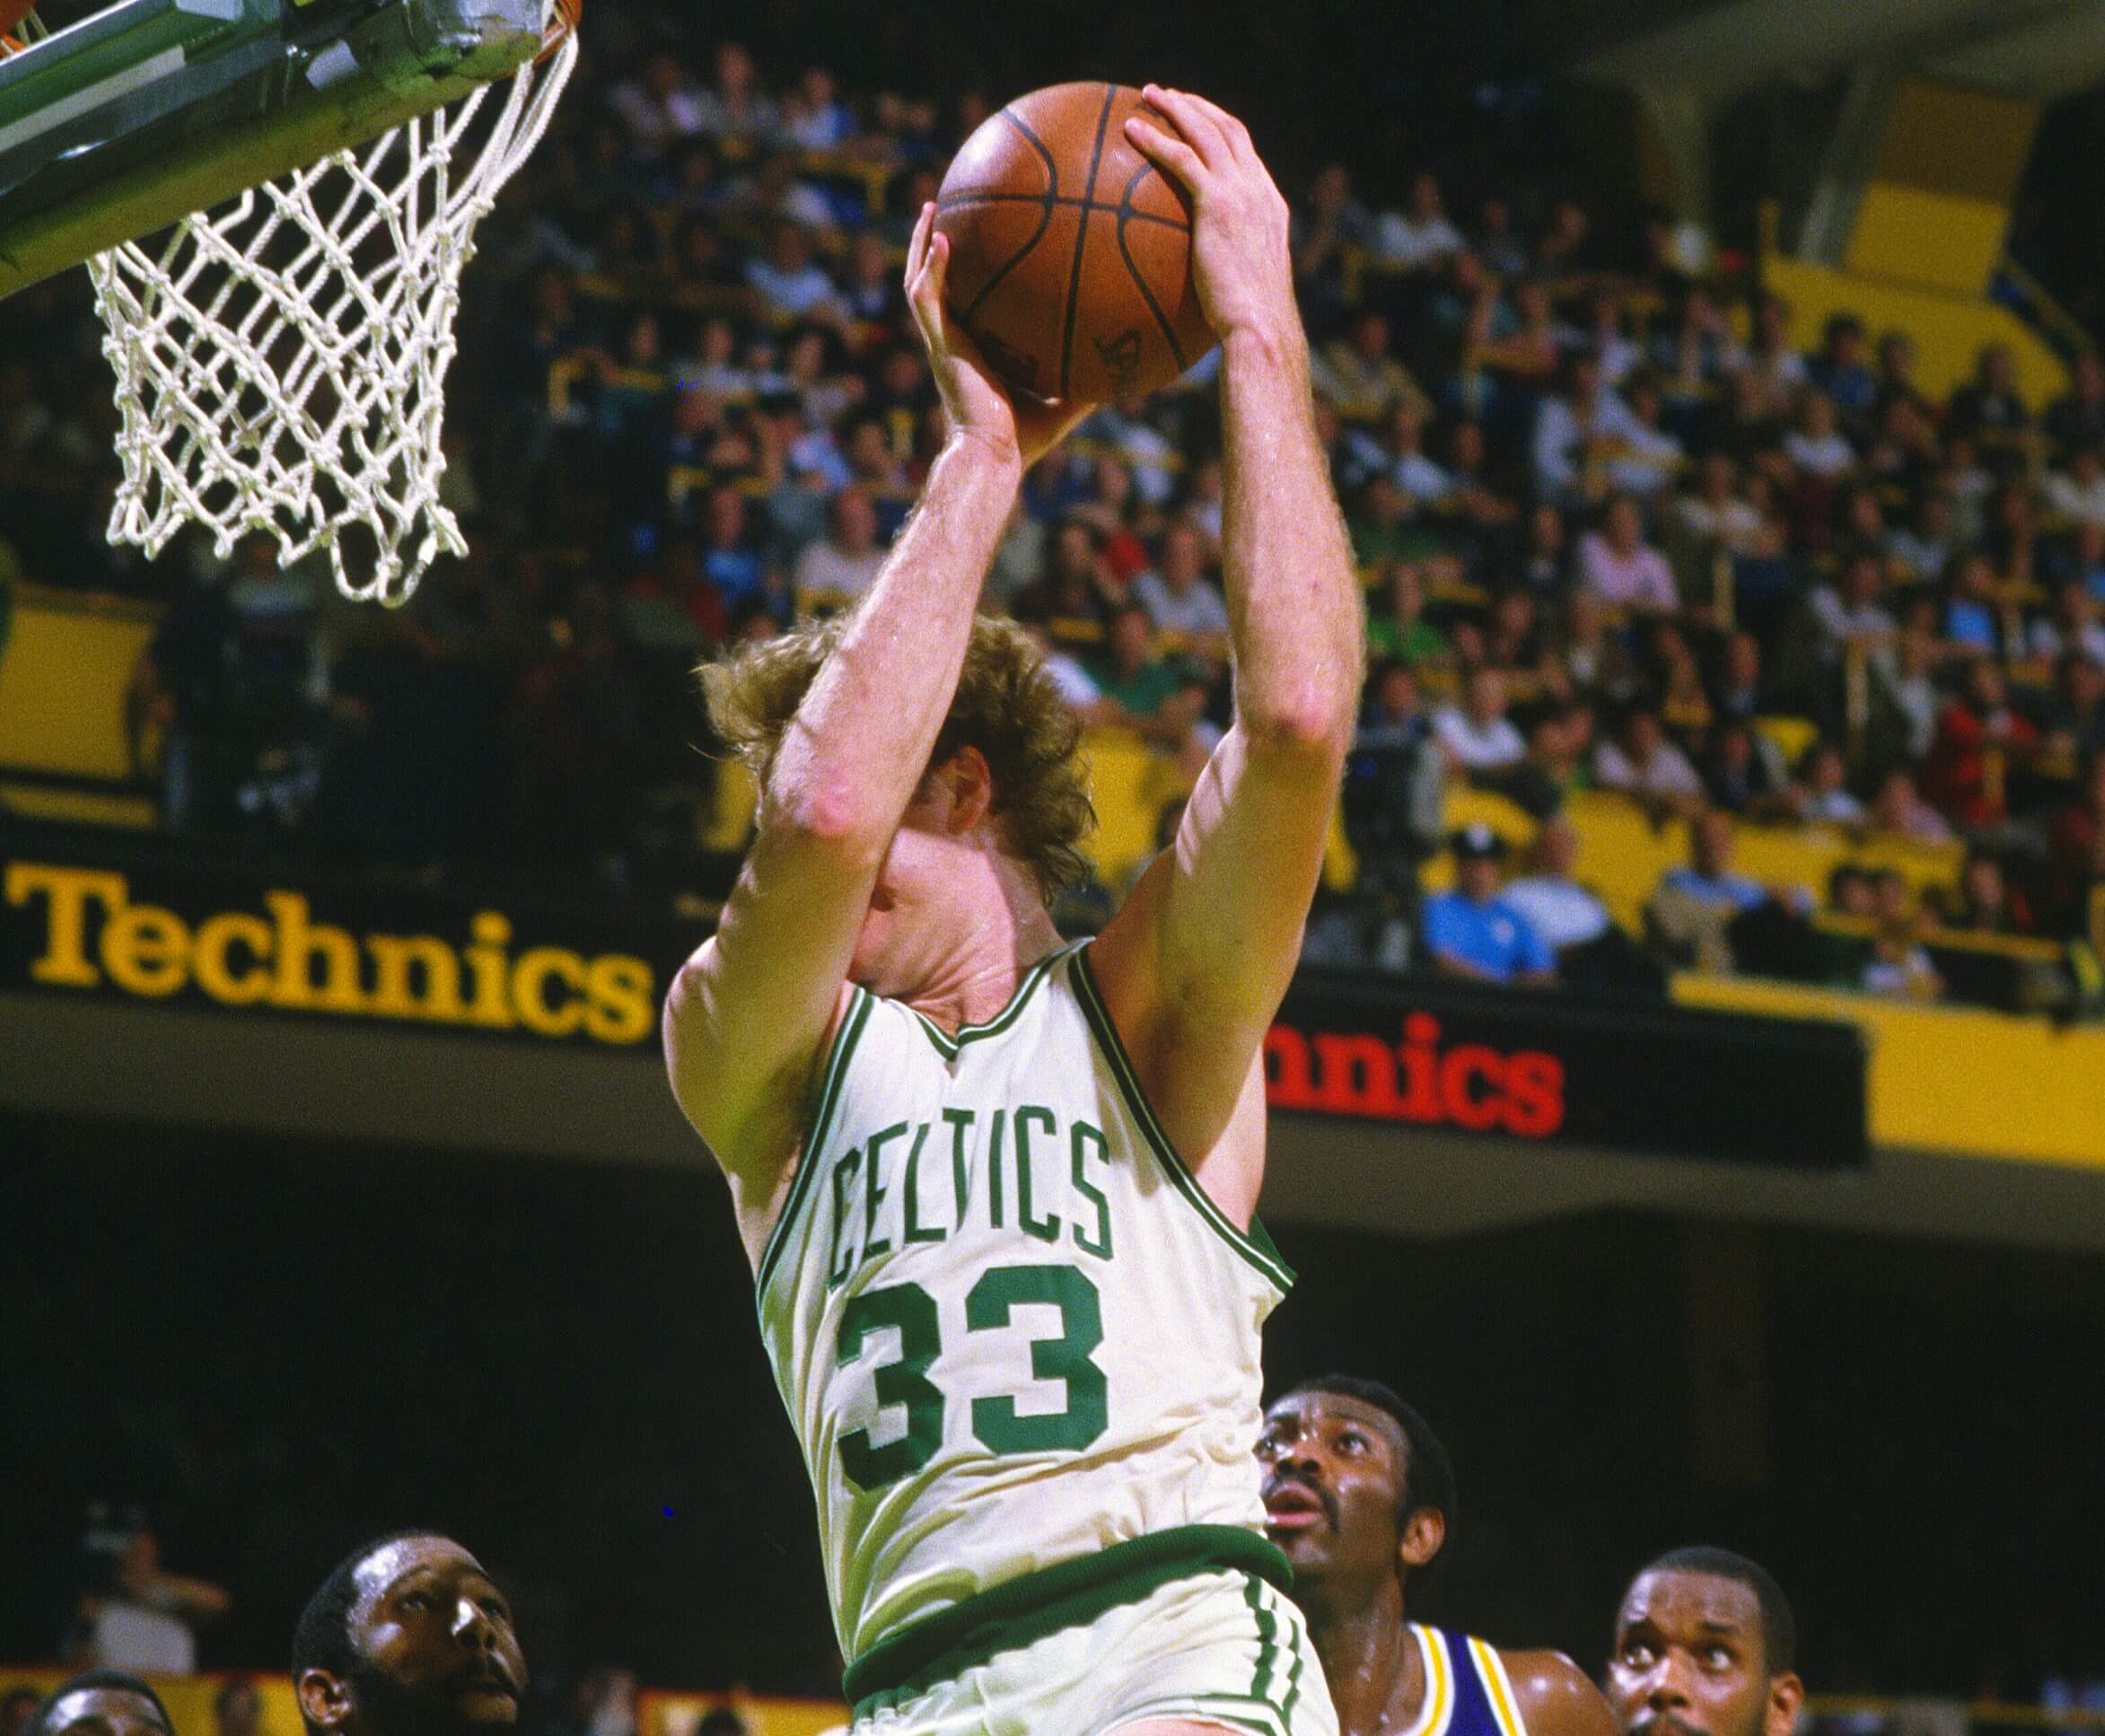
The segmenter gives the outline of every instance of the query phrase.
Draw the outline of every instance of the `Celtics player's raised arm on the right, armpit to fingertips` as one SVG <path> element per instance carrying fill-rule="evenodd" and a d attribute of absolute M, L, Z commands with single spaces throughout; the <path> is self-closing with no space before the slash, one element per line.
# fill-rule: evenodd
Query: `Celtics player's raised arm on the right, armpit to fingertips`
<path fill-rule="evenodd" d="M 1147 86 L 1126 137 L 1191 194 L 1194 276 L 1221 337 L 1223 568 L 1236 724 L 1177 842 L 1097 943 L 1105 997 L 1170 1138 L 1248 1216 L 1261 1140 L 1212 1153 L 1301 949 L 1360 692 L 1360 596 L 1316 440 L 1286 200 L 1240 120 Z M 1261 1111 L 1261 1096 L 1257 1098 Z M 1212 1170 L 1212 1172 L 1210 1172 Z"/>

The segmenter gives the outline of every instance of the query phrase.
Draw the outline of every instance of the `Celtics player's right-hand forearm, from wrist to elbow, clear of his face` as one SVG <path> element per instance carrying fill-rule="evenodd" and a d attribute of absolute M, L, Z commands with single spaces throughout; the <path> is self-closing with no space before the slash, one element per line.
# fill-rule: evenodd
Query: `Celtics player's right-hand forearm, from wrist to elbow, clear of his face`
<path fill-rule="evenodd" d="M 1360 694 L 1362 610 L 1299 328 L 1229 335 L 1221 423 L 1236 715 L 1261 741 L 1341 747 Z"/>

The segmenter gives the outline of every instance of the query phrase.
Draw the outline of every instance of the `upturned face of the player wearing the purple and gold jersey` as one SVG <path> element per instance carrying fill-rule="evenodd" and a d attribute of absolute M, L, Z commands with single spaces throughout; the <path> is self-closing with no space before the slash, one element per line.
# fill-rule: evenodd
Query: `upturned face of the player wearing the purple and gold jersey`
<path fill-rule="evenodd" d="M 1292 1393 L 1265 1412 L 1257 1462 L 1265 1536 L 1297 1574 L 1398 1572 L 1406 1448 L 1394 1416 L 1343 1393 Z"/>

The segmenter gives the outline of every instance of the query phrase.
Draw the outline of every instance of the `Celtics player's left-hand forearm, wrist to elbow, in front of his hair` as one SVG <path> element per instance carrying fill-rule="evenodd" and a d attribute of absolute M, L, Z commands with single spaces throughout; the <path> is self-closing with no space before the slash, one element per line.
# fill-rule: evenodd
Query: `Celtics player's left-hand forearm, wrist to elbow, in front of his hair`
<path fill-rule="evenodd" d="M 949 713 L 973 614 L 1008 524 L 1015 452 L 954 438 L 840 650 L 783 739 L 770 806 L 834 837 L 890 840 Z"/>

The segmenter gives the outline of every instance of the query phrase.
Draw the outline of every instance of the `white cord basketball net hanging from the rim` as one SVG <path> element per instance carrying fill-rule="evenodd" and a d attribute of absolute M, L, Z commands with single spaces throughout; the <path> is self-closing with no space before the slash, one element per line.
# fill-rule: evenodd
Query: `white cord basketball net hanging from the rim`
<path fill-rule="evenodd" d="M 269 530 L 284 564 L 326 549 L 345 596 L 383 604 L 465 553 L 440 501 L 461 267 L 575 65 L 568 34 L 450 109 L 185 217 L 152 253 L 88 261 L 122 412 L 112 543 L 160 553 L 196 522 L 225 558 Z"/>

